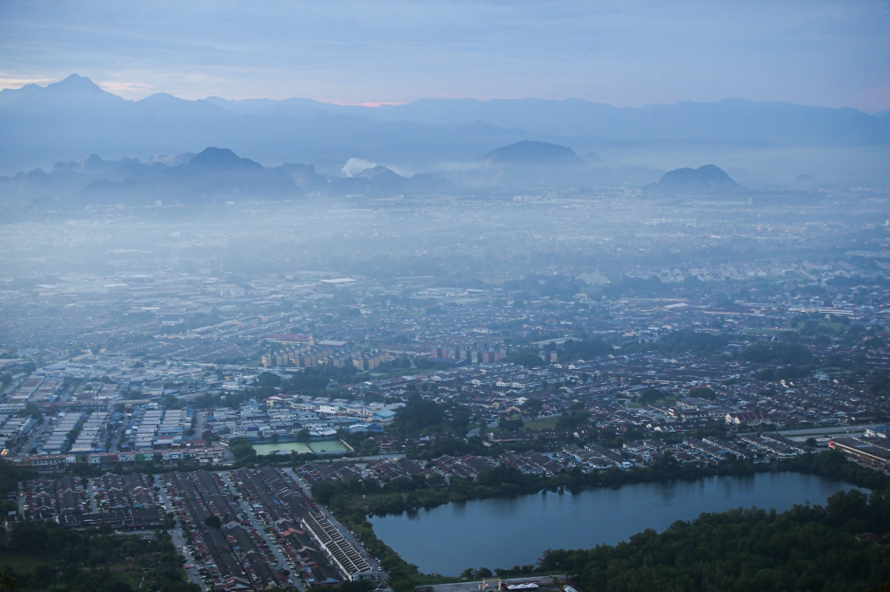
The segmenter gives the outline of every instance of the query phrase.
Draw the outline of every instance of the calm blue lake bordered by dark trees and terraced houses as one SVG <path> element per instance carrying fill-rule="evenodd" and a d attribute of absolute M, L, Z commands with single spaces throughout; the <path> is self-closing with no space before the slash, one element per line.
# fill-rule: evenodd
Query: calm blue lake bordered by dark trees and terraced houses
<path fill-rule="evenodd" d="M 694 482 L 625 485 L 572 495 L 450 503 L 400 516 L 371 518 L 377 537 L 421 572 L 457 575 L 467 567 L 533 564 L 547 548 L 615 544 L 647 528 L 729 508 L 824 505 L 854 486 L 799 473 L 708 477 Z"/>

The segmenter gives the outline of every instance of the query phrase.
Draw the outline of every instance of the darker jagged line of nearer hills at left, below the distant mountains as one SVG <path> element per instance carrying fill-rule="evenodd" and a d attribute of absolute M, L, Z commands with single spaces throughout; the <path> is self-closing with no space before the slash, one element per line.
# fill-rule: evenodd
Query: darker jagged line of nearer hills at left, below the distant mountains
<path fill-rule="evenodd" d="M 0 204 L 43 209 L 86 204 L 220 204 L 303 196 L 399 196 L 448 191 L 449 180 L 417 174 L 402 177 L 373 166 L 352 177 L 329 177 L 312 164 L 265 167 L 228 148 L 206 148 L 164 162 L 141 163 L 90 156 L 0 177 Z"/>

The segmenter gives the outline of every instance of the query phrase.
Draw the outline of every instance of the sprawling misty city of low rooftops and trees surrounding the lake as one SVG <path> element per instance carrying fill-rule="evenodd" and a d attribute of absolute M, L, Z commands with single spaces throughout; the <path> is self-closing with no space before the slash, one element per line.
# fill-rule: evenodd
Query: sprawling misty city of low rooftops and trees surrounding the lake
<path fill-rule="evenodd" d="M 886 567 L 886 200 L 613 188 L 23 215 L 0 225 L 20 549 L 0 567 L 20 589 L 590 592 L 621 548 L 449 579 L 368 516 L 776 470 L 876 492 L 838 494 L 872 517 L 835 524 L 841 499 L 794 520 Z M 127 553 L 91 559 L 109 540 Z"/>

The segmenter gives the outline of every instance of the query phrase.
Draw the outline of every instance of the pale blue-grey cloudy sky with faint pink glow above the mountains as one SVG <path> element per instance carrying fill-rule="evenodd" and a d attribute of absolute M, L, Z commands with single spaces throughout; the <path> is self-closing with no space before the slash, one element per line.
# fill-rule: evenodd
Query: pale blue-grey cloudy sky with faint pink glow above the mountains
<path fill-rule="evenodd" d="M 789 100 L 890 108 L 890 3 L 17 2 L 0 87 L 127 98 Z"/>

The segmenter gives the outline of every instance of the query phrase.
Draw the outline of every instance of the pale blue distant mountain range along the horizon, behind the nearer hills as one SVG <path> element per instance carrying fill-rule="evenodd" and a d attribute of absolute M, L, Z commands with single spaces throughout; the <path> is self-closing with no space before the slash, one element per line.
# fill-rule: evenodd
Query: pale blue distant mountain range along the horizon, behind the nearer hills
<path fill-rule="evenodd" d="M 746 100 L 617 108 L 537 99 L 433 99 L 368 108 L 306 99 L 182 100 L 163 93 L 134 101 L 77 75 L 0 91 L 0 130 L 0 174 L 88 154 L 145 161 L 207 146 L 231 148 L 263 164 L 311 163 L 328 173 L 350 158 L 401 171 L 458 169 L 521 141 L 578 154 L 609 147 L 890 146 L 890 117 L 851 108 Z"/>

